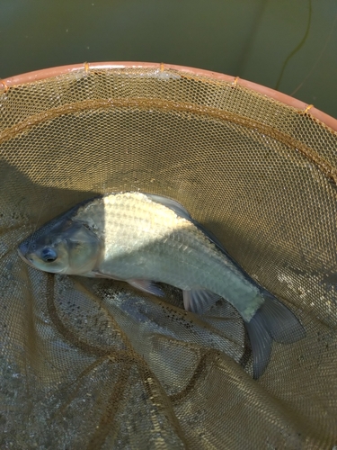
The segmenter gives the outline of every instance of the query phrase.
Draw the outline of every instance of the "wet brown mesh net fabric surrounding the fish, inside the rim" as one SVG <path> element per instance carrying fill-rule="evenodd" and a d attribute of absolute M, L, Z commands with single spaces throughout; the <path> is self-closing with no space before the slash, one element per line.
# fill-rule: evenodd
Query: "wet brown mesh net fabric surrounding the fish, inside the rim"
<path fill-rule="evenodd" d="M 0 447 L 337 446 L 337 134 L 240 85 L 97 69 L 0 94 Z M 306 329 L 262 378 L 237 312 L 48 275 L 17 246 L 97 193 L 181 202 Z"/>

